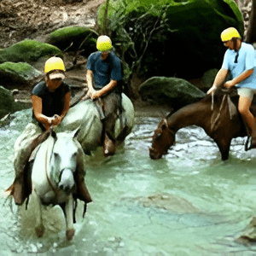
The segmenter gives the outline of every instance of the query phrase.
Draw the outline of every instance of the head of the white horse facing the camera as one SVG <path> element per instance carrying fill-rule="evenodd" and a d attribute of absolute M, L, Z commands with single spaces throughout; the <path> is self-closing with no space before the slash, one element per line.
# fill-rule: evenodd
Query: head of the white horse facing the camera
<path fill-rule="evenodd" d="M 58 189 L 67 194 L 75 189 L 73 174 L 77 168 L 79 148 L 76 141 L 78 130 L 61 132 L 55 136 L 55 144 L 49 166 L 49 177 Z"/>

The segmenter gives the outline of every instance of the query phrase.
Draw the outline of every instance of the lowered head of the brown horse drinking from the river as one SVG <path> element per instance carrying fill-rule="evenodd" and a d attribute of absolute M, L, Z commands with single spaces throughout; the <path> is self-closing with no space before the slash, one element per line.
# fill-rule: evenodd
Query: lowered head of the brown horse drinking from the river
<path fill-rule="evenodd" d="M 167 119 L 162 119 L 152 137 L 152 146 L 149 148 L 150 158 L 160 159 L 163 154 L 167 154 L 174 142 L 174 132 L 169 128 Z"/>

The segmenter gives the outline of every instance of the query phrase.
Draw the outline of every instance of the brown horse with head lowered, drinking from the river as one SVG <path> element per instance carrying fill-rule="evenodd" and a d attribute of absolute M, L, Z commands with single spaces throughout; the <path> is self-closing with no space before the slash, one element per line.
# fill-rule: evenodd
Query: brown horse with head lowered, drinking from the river
<path fill-rule="evenodd" d="M 205 96 L 200 102 L 180 108 L 175 113 L 169 113 L 154 131 L 152 147 L 149 148 L 150 158 L 156 160 L 167 154 L 175 142 L 175 134 L 179 129 L 197 125 L 217 143 L 222 160 L 228 160 L 232 138 L 247 136 L 246 126 L 237 110 L 238 99 L 236 89 L 222 89 L 216 91 L 214 96 Z M 254 101 L 251 111 L 255 116 Z"/>

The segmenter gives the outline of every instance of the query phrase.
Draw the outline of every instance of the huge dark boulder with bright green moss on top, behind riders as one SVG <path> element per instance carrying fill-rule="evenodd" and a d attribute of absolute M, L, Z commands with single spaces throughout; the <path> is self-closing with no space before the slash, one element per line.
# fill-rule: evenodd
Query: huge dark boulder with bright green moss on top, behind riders
<path fill-rule="evenodd" d="M 106 3 L 98 12 L 102 26 L 105 8 Z M 201 77 L 223 61 L 220 33 L 235 26 L 243 34 L 241 11 L 233 0 L 110 0 L 108 19 L 113 44 L 130 65 L 148 47 L 140 70 L 146 79 Z"/>

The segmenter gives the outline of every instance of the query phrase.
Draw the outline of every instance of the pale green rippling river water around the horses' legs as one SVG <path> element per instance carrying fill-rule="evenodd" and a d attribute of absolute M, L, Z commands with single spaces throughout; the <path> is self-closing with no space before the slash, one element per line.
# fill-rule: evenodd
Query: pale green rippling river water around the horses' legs
<path fill-rule="evenodd" d="M 73 241 L 65 239 L 59 207 L 44 210 L 46 230 L 37 238 L 33 202 L 18 208 L 3 193 L 14 178 L 15 140 L 30 117 L 31 110 L 15 113 L 0 130 L 1 255 L 256 255 L 253 242 L 237 241 L 256 212 L 255 152 L 245 153 L 244 138 L 237 138 L 223 162 L 212 140 L 192 126 L 177 132 L 163 159 L 151 160 L 159 119 L 150 117 L 137 117 L 113 157 L 105 159 L 99 148 L 88 158 L 94 201 L 84 219 L 79 204 Z"/>

